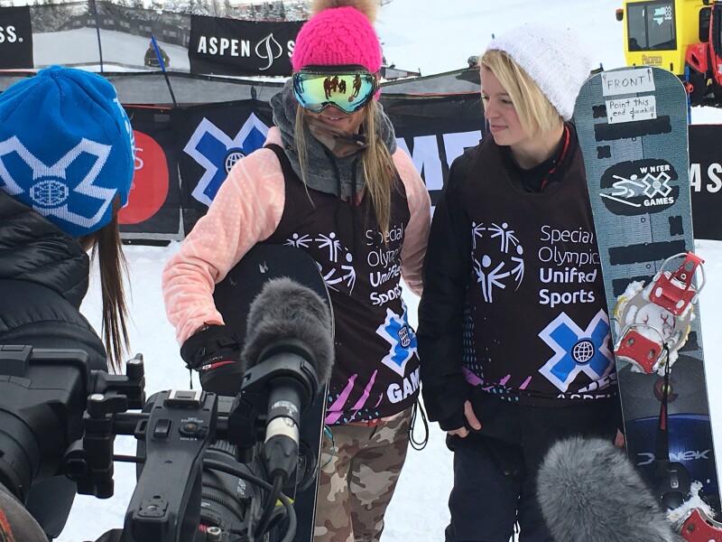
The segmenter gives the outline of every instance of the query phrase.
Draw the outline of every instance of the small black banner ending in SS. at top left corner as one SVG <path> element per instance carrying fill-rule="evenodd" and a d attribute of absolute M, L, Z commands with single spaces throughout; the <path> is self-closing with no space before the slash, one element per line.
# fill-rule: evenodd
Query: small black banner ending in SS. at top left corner
<path fill-rule="evenodd" d="M 30 6 L 0 7 L 0 70 L 33 67 Z"/>

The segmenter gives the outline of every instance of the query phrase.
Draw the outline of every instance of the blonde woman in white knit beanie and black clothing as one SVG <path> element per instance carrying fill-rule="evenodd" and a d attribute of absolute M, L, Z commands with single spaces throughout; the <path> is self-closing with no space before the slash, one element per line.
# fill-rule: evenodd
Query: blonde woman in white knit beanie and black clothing
<path fill-rule="evenodd" d="M 554 540 L 536 498 L 544 454 L 569 435 L 611 442 L 621 422 L 569 122 L 590 64 L 572 33 L 535 24 L 479 61 L 489 133 L 451 166 L 419 306 L 424 404 L 454 452 L 447 542 L 508 542 L 517 524 L 522 542 Z"/>

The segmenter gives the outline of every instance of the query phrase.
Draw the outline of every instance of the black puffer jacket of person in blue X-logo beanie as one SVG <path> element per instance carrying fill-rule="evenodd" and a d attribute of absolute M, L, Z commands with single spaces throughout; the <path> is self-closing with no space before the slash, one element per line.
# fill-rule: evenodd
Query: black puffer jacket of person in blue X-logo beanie
<path fill-rule="evenodd" d="M 106 351 L 79 313 L 88 255 L 50 220 L 0 190 L 0 344 L 86 350 L 90 369 Z"/>

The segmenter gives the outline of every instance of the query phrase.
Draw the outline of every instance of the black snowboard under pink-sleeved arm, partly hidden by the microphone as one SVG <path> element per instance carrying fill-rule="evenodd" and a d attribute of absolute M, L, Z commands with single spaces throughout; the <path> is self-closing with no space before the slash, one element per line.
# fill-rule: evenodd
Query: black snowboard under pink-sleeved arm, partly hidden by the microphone
<path fill-rule="evenodd" d="M 329 292 L 313 258 L 300 248 L 258 244 L 216 285 L 213 294 L 218 312 L 241 341 L 245 338 L 248 307 L 255 296 L 260 293 L 266 281 L 283 276 L 292 278 L 319 294 L 321 299 L 328 302 L 333 315 Z M 283 490 L 293 501 L 298 520 L 294 542 L 310 542 L 313 538 L 326 395 L 325 387 L 319 389 L 310 408 L 301 416 L 298 467 L 300 475 L 297 477 L 299 483 L 295 486 L 295 491 L 294 488 Z M 219 405 L 219 411 L 221 410 L 222 406 Z"/>

